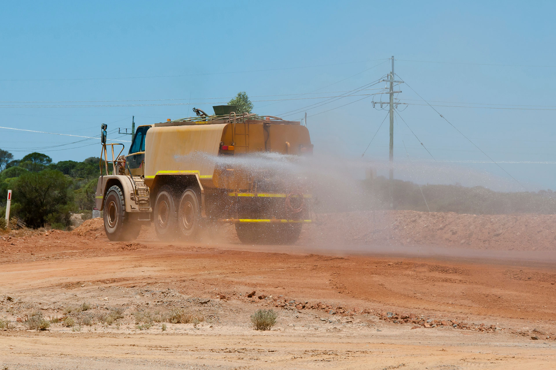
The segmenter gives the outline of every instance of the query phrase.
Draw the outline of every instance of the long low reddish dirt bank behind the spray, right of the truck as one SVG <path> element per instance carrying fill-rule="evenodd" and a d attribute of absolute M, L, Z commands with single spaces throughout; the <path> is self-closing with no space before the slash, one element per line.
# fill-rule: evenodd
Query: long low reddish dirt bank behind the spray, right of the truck
<path fill-rule="evenodd" d="M 454 212 L 360 211 L 317 215 L 301 243 L 556 249 L 556 215 L 465 215 Z"/>

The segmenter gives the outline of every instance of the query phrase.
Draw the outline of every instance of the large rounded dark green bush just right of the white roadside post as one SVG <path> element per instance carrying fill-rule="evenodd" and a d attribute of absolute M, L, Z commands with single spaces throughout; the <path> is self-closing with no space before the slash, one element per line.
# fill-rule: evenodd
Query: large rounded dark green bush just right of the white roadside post
<path fill-rule="evenodd" d="M 49 222 L 53 227 L 69 224 L 72 208 L 72 179 L 60 171 L 26 172 L 11 180 L 17 215 L 30 227 Z M 57 225 L 53 225 L 56 223 Z"/>

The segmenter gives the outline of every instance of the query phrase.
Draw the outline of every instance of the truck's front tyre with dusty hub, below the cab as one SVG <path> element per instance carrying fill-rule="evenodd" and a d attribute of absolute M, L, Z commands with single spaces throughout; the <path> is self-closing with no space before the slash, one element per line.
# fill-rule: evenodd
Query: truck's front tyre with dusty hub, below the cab
<path fill-rule="evenodd" d="M 125 200 L 120 187 L 111 186 L 106 192 L 104 204 L 104 227 L 106 236 L 112 241 L 137 239 L 141 224 L 126 215 Z"/>

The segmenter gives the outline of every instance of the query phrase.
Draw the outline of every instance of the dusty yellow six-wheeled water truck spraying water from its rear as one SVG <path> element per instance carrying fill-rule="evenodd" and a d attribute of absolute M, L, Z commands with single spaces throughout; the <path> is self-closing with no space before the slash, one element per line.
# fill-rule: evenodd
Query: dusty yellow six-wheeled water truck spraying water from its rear
<path fill-rule="evenodd" d="M 276 156 L 312 153 L 298 121 L 201 115 L 139 126 L 125 158 L 120 148 L 103 140 L 101 174 L 112 174 L 100 176 L 96 192 L 111 240 L 135 239 L 152 224 L 161 238 L 193 239 L 230 222 L 242 242 L 286 244 L 311 222 L 302 179 L 273 166 Z"/>

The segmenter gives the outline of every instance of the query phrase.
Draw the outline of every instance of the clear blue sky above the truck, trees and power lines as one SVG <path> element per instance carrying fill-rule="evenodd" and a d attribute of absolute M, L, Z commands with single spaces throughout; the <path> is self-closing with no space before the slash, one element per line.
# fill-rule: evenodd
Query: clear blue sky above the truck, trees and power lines
<path fill-rule="evenodd" d="M 556 161 L 552 2 L 18 1 L 2 7 L 0 126 L 97 136 L 101 123 L 110 131 L 130 127 L 132 115 L 145 124 L 190 116 L 192 107 L 212 111 L 211 102 L 245 90 L 260 114 L 297 109 L 287 118 L 299 119 L 315 104 L 306 109 L 315 153 L 355 160 L 387 113 L 371 105 L 380 97 L 317 105 L 380 79 L 394 55 L 396 73 L 408 83 L 398 87 L 400 102 L 424 104 L 413 88 L 443 105 L 435 108 L 496 161 Z M 521 189 L 494 164 L 443 162 L 488 158 L 430 107 L 399 110 L 420 141 L 398 117 L 395 158 L 406 159 L 407 150 L 421 169 L 415 180 L 495 187 L 484 181 L 492 178 Z M 16 158 L 35 150 L 54 161 L 100 153 L 95 140 L 63 145 L 81 138 L 0 133 L 0 148 Z M 388 119 L 365 158 L 388 158 Z M 448 166 L 449 180 L 435 176 L 435 167 Z M 529 190 L 556 187 L 554 164 L 500 166 Z"/>

